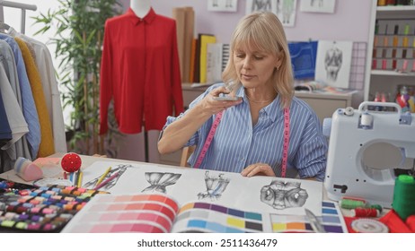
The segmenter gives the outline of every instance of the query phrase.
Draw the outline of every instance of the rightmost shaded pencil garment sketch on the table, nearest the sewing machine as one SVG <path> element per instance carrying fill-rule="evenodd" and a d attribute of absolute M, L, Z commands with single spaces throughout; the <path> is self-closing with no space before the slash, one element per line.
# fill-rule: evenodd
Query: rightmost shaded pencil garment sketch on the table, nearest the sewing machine
<path fill-rule="evenodd" d="M 300 186 L 301 182 L 274 180 L 260 189 L 260 201 L 278 210 L 301 207 L 305 204 L 308 194 Z"/>

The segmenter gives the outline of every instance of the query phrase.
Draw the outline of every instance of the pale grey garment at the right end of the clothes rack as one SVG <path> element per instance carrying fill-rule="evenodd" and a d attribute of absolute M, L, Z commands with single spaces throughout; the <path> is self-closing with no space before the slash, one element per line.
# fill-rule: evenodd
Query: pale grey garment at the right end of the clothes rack
<path fill-rule="evenodd" d="M 12 37 L 22 39 L 31 50 L 42 82 L 43 93 L 45 94 L 46 105 L 49 111 L 50 122 L 52 123 L 53 141 L 55 151 L 66 152 L 65 123 L 60 101 L 60 92 L 57 88 L 57 77 L 53 66 L 52 56 L 49 48 L 42 42 L 32 39 L 10 27 L 7 33 Z"/>

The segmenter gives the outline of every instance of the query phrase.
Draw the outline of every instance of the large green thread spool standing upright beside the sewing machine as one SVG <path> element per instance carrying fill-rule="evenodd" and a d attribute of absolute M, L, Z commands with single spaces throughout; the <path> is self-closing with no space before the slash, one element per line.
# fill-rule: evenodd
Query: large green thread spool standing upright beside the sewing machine
<path fill-rule="evenodd" d="M 392 207 L 403 221 L 415 214 L 415 179 L 413 177 L 400 175 L 395 179 Z"/>

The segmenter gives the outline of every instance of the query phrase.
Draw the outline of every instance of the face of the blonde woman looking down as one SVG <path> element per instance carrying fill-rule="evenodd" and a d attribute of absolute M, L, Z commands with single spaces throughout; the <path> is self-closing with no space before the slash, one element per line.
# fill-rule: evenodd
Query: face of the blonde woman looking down
<path fill-rule="evenodd" d="M 278 64 L 278 58 L 266 52 L 249 48 L 234 50 L 234 67 L 245 88 L 265 85 Z"/>

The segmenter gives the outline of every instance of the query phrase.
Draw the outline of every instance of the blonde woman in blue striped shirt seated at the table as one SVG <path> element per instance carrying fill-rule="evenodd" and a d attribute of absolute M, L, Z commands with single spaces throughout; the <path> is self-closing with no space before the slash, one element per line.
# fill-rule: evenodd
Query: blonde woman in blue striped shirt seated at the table
<path fill-rule="evenodd" d="M 278 17 L 268 12 L 243 17 L 230 45 L 223 82 L 179 117 L 167 117 L 158 150 L 197 145 L 188 160 L 193 168 L 322 181 L 327 140 L 313 109 L 294 97 Z"/>

